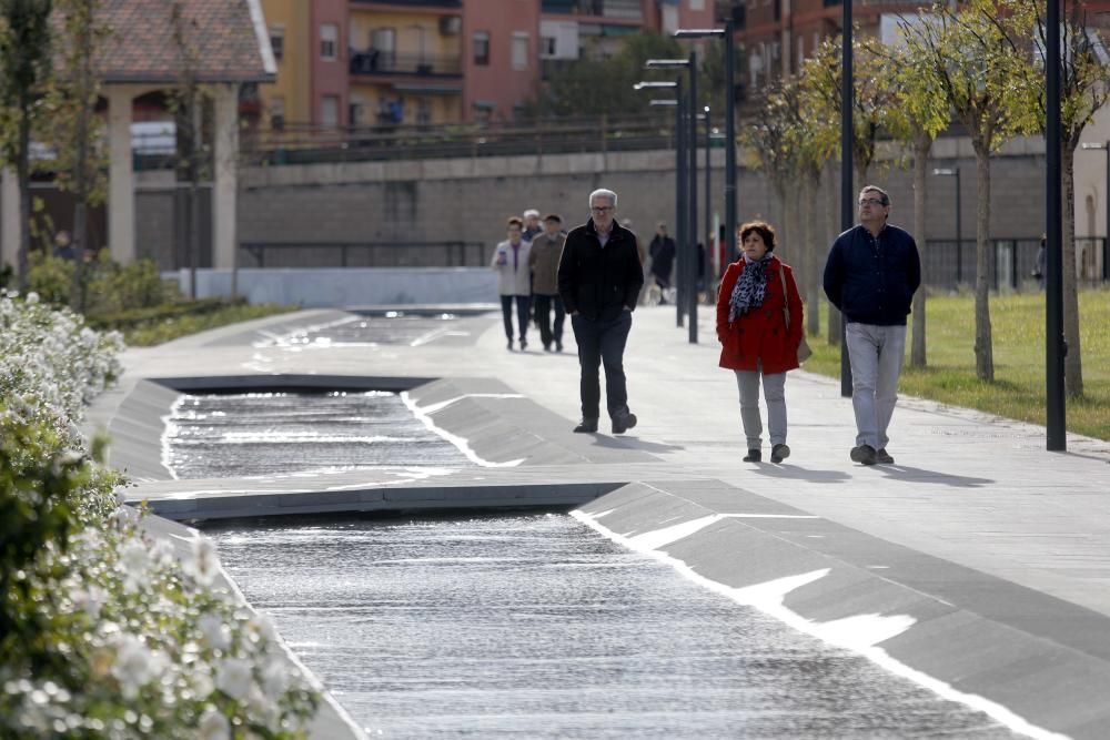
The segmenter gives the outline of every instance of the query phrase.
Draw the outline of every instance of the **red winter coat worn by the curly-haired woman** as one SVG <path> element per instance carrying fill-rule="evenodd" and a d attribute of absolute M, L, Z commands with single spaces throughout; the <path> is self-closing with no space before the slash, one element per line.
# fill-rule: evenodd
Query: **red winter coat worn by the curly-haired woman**
<path fill-rule="evenodd" d="M 758 308 L 728 322 L 728 300 L 740 273 L 744 257 L 728 265 L 717 293 L 717 341 L 722 344 L 720 366 L 729 369 L 756 369 L 763 361 L 763 372 L 768 375 L 785 373 L 798 367 L 798 344 L 801 342 L 803 308 L 798 286 L 794 282 L 794 271 L 773 256 L 767 265 L 767 288 L 764 303 Z M 786 301 L 790 306 L 790 330 L 786 328 L 783 315 L 783 278 L 786 271 Z"/>

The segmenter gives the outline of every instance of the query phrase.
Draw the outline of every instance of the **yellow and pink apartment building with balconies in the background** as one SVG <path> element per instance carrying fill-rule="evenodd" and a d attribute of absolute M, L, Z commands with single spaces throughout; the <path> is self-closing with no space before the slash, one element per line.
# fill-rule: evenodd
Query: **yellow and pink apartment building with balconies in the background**
<path fill-rule="evenodd" d="M 713 0 L 262 0 L 273 125 L 512 120 L 544 70 L 629 34 L 714 23 Z"/>

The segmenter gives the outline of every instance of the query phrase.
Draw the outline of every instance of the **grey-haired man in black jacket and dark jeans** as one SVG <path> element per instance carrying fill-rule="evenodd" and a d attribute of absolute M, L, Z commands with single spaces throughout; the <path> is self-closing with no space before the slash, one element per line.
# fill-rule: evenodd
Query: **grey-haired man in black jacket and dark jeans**
<path fill-rule="evenodd" d="M 628 410 L 624 348 L 644 286 L 644 268 L 636 235 L 616 223 L 616 210 L 617 194 L 612 190 L 591 193 L 591 217 L 567 234 L 558 264 L 558 292 L 571 315 L 582 368 L 582 422 L 574 427 L 579 433 L 597 432 L 602 364 L 613 434 L 636 426 L 636 415 Z"/>

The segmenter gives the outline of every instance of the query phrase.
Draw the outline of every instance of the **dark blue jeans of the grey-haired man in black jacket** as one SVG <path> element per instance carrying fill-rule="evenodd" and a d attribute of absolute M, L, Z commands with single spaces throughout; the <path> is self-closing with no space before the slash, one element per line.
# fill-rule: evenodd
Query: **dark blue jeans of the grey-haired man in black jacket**
<path fill-rule="evenodd" d="M 578 365 L 582 367 L 582 416 L 601 416 L 601 365 L 605 365 L 605 405 L 609 416 L 627 412 L 624 348 L 632 328 L 632 312 L 622 310 L 620 315 L 612 321 L 589 321 L 581 314 L 571 316 L 571 327 L 574 330 L 575 342 L 578 343 Z"/>

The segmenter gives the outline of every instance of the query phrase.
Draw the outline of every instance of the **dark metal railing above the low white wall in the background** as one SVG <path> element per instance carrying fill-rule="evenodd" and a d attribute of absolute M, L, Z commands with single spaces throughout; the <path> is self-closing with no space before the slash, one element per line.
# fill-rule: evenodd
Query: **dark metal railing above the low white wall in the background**
<path fill-rule="evenodd" d="M 243 242 L 240 267 L 480 267 L 484 242 Z"/>

